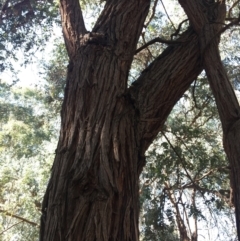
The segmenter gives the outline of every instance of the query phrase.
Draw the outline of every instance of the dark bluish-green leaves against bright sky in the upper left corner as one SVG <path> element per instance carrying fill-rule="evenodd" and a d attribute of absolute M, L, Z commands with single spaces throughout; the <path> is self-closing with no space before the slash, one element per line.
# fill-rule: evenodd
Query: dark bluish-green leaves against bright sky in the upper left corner
<path fill-rule="evenodd" d="M 51 36 L 54 24 L 60 23 L 57 1 L 0 1 L 0 71 L 11 69 L 13 61 L 31 62 Z"/>

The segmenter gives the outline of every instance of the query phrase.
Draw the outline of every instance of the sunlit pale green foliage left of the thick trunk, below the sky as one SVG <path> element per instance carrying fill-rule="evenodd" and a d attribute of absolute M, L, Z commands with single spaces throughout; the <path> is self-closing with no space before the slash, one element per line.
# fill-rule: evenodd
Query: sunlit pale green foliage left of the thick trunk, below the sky
<path fill-rule="evenodd" d="M 59 126 L 45 98 L 40 89 L 0 84 L 0 240 L 38 240 Z"/>

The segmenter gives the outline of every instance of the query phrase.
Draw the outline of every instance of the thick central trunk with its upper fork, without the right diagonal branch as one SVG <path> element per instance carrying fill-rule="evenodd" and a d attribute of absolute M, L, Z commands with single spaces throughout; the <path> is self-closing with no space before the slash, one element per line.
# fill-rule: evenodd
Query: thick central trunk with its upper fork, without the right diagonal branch
<path fill-rule="evenodd" d="M 79 7 L 70 2 L 74 4 L 62 3 L 62 11 Z M 72 9 L 62 14 L 70 19 L 63 20 L 70 64 L 60 140 L 43 203 L 41 240 L 138 239 L 138 178 L 144 160 L 139 156 L 138 114 L 124 93 L 148 13 L 149 2 L 142 2 L 141 8 L 133 1 L 106 4 L 106 16 L 95 27 L 100 30 L 86 33 L 81 27 L 80 39 L 69 27 L 74 20 L 81 21 L 79 15 Z M 116 7 L 126 11 L 116 15 Z M 138 22 L 132 28 L 131 18 Z M 104 31 L 105 25 L 111 28 L 110 20 L 114 29 Z M 119 44 L 121 38 L 125 42 Z"/>

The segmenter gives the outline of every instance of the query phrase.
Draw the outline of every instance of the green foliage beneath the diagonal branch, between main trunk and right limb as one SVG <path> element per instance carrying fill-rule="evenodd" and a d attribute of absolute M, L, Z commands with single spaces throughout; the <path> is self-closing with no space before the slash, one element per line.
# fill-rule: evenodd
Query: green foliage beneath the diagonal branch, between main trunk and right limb
<path fill-rule="evenodd" d="M 206 79 L 200 79 L 175 106 L 148 151 L 141 188 L 143 240 L 177 240 L 181 222 L 190 238 L 194 230 L 187 223 L 196 220 L 198 229 L 210 225 L 209 213 L 232 217 L 221 141 L 214 100 Z M 220 222 L 218 227 L 223 230 Z M 218 240 L 228 235 L 221 233 Z"/>

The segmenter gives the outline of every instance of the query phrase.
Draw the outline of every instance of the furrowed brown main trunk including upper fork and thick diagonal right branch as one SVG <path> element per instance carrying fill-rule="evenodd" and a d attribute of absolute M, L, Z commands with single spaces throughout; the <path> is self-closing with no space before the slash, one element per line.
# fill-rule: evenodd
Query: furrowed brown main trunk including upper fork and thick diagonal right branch
<path fill-rule="evenodd" d="M 40 240 L 136 241 L 144 153 L 202 70 L 198 36 L 187 30 L 127 88 L 150 0 L 107 1 L 92 33 L 77 2 L 61 1 L 70 63 Z"/>

